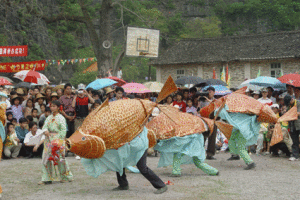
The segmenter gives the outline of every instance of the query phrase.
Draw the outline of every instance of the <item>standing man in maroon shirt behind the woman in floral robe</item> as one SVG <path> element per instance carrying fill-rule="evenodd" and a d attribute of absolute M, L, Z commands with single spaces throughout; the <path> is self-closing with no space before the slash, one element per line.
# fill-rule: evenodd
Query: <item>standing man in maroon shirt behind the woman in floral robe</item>
<path fill-rule="evenodd" d="M 74 96 L 72 93 L 72 85 L 70 83 L 64 86 L 65 94 L 59 98 L 62 105 L 61 114 L 66 118 L 68 132 L 66 137 L 69 138 L 74 133 L 75 108 L 72 107 Z"/>

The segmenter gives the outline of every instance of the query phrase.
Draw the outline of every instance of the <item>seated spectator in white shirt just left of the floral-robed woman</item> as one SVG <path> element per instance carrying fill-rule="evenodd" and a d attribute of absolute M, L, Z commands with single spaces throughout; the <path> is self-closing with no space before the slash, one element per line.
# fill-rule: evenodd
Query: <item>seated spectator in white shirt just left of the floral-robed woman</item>
<path fill-rule="evenodd" d="M 29 131 L 24 139 L 24 147 L 26 150 L 27 158 L 33 158 L 34 156 L 42 157 L 43 143 L 45 136 L 43 131 L 38 129 L 36 122 L 29 123 Z"/>

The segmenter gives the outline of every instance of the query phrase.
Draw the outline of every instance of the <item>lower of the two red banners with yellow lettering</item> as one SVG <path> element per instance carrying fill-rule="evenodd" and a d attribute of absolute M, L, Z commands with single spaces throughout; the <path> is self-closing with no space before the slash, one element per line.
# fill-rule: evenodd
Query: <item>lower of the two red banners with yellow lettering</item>
<path fill-rule="evenodd" d="M 30 62 L 14 62 L 14 63 L 0 63 L 0 72 L 14 73 L 22 70 L 42 71 L 45 69 L 46 60 L 30 61 Z"/>

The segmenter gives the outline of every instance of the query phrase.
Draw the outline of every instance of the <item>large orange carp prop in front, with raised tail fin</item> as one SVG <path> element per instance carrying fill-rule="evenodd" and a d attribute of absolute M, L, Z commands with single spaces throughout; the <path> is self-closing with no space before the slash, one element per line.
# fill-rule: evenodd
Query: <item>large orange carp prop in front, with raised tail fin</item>
<path fill-rule="evenodd" d="M 139 99 L 124 99 L 108 103 L 91 112 L 81 127 L 66 140 L 67 148 L 83 158 L 100 158 L 106 149 L 118 149 L 130 142 L 139 133 L 157 103 L 177 87 L 171 77 L 168 78 L 157 98 L 157 102 Z M 155 135 L 148 133 L 149 146 L 156 144 Z"/>

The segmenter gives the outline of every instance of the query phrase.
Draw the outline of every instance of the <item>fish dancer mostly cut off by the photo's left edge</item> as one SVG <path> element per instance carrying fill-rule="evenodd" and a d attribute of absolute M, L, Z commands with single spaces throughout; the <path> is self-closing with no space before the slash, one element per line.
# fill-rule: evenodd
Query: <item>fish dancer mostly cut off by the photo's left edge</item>
<path fill-rule="evenodd" d="M 5 100 L 7 97 L 7 95 L 3 92 L 0 92 L 0 161 L 1 161 L 1 157 L 2 157 L 2 151 L 3 151 L 3 143 L 5 141 L 5 129 L 4 126 L 6 124 L 6 103 Z M 2 196 L 2 187 L 0 185 L 0 198 Z"/>

